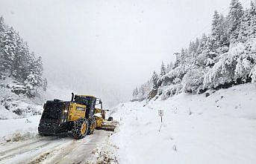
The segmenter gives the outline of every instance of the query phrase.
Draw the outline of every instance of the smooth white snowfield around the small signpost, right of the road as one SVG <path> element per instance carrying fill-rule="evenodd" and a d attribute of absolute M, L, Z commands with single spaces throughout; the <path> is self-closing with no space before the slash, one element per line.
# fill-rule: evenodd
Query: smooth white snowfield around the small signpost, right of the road
<path fill-rule="evenodd" d="M 208 93 L 114 108 L 119 163 L 256 163 L 256 85 Z"/>

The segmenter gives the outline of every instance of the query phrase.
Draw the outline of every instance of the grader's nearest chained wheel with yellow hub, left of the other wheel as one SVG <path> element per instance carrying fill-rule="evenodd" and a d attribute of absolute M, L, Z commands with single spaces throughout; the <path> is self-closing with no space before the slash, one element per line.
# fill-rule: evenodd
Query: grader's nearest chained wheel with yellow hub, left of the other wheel
<path fill-rule="evenodd" d="M 75 139 L 84 138 L 87 135 L 87 131 L 88 131 L 87 119 L 77 119 L 74 122 L 74 125 L 72 128 L 72 134 L 75 137 Z"/>

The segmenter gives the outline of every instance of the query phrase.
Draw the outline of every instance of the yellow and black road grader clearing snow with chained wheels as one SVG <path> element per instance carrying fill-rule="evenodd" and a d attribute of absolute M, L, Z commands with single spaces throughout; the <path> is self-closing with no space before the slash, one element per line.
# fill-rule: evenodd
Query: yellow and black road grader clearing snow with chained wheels
<path fill-rule="evenodd" d="M 96 108 L 96 105 L 100 105 L 100 108 Z M 43 105 L 38 132 L 41 135 L 54 135 L 71 131 L 75 139 L 81 139 L 93 134 L 96 128 L 113 131 L 115 126 L 107 126 L 110 122 L 104 118 L 105 111 L 101 99 L 72 93 L 71 101 L 54 99 Z M 110 119 L 113 121 L 112 117 Z"/>

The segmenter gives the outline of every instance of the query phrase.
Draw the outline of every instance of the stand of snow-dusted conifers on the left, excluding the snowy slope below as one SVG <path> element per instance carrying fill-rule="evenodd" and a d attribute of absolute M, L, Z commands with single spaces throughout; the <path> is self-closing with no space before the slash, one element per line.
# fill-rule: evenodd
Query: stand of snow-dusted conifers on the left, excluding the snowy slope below
<path fill-rule="evenodd" d="M 0 79 L 13 79 L 16 85 L 9 87 L 15 94 L 34 97 L 46 91 L 47 81 L 43 77 L 43 63 L 28 48 L 19 33 L 4 23 L 0 17 Z"/>

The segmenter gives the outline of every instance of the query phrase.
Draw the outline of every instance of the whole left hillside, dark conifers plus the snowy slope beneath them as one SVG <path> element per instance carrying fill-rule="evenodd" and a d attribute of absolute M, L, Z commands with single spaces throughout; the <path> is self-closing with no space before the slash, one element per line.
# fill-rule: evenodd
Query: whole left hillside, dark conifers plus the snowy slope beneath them
<path fill-rule="evenodd" d="M 40 113 L 32 102 L 46 88 L 41 57 L 0 17 L 0 119 Z"/>

